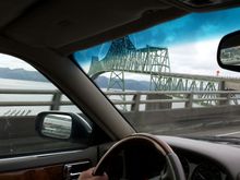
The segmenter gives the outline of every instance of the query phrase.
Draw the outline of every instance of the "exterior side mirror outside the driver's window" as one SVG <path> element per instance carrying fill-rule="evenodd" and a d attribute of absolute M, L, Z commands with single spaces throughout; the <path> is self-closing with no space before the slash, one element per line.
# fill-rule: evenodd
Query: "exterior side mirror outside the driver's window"
<path fill-rule="evenodd" d="M 49 111 L 38 113 L 36 131 L 45 137 L 85 143 L 91 140 L 93 128 L 76 113 Z"/>

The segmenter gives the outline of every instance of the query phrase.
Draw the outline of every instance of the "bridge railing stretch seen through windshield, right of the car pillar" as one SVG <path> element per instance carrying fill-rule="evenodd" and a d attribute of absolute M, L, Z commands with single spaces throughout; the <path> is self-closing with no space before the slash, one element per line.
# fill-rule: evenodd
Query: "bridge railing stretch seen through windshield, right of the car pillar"
<path fill-rule="evenodd" d="M 106 92 L 120 109 L 149 111 L 240 105 L 240 91 L 218 92 Z"/>

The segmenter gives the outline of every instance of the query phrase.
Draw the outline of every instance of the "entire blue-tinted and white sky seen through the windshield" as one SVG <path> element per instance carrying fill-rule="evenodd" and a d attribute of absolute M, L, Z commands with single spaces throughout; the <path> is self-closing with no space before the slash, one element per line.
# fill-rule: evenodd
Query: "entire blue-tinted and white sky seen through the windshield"
<path fill-rule="evenodd" d="M 211 13 L 192 13 L 130 35 L 136 48 L 146 45 L 167 47 L 171 72 L 240 77 L 240 73 L 223 70 L 216 61 L 218 43 L 226 34 L 240 29 L 240 8 Z M 110 43 L 74 53 L 86 69 L 92 56 L 103 59 Z M 132 74 L 132 76 L 135 76 Z"/>

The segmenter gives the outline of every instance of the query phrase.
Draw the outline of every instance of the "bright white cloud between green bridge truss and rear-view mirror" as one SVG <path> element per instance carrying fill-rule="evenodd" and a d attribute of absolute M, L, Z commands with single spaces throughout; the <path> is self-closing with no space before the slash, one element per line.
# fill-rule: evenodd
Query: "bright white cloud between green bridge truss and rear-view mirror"
<path fill-rule="evenodd" d="M 203 40 L 169 47 L 171 72 L 240 77 L 240 73 L 223 70 L 217 64 L 219 39 Z"/>

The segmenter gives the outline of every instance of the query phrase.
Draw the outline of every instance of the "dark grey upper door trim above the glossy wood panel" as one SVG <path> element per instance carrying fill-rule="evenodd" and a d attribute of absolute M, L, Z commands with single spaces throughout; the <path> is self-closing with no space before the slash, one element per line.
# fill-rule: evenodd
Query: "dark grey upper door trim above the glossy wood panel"
<path fill-rule="evenodd" d="M 89 161 L 91 166 L 96 165 L 98 160 L 98 147 L 89 147 L 83 151 L 60 152 L 51 154 L 40 154 L 33 156 L 21 156 L 14 158 L 0 159 L 0 175 L 8 171 L 19 171 L 34 169 L 38 167 L 48 167 L 53 165 L 68 165 L 71 163 Z"/>

